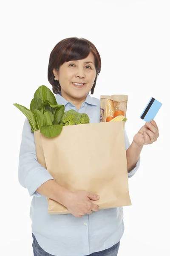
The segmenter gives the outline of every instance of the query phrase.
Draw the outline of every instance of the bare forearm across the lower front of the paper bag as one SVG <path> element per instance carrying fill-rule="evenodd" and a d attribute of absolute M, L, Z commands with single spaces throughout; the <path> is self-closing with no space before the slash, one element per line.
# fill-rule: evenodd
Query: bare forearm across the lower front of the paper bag
<path fill-rule="evenodd" d="M 47 198 L 51 198 L 64 206 L 65 199 L 71 194 L 68 189 L 65 189 L 63 186 L 59 185 L 55 180 L 46 181 L 36 190 L 36 192 L 44 195 Z"/>

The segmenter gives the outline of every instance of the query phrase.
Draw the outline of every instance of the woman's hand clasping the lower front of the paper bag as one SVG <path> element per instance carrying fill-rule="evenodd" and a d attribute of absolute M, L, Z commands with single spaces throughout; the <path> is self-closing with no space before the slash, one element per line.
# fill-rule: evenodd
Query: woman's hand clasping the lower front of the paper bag
<path fill-rule="evenodd" d="M 92 211 L 97 212 L 99 210 L 98 205 L 91 202 L 91 200 L 96 201 L 98 199 L 99 195 L 79 190 L 77 192 L 71 192 L 63 203 L 71 214 L 81 218 L 85 213 L 91 214 Z"/>

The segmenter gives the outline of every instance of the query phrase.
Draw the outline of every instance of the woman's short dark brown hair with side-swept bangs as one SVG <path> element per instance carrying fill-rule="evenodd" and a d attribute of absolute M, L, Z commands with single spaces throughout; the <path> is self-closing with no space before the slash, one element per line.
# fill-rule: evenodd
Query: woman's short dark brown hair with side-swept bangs
<path fill-rule="evenodd" d="M 59 81 L 54 80 L 53 69 L 59 70 L 59 67 L 66 61 L 76 61 L 86 58 L 92 52 L 95 59 L 96 78 L 91 88 L 91 94 L 94 93 L 97 76 L 101 71 L 101 58 L 98 50 L 90 41 L 85 38 L 65 38 L 60 41 L 52 50 L 48 64 L 48 81 L 52 85 L 55 94 L 61 92 Z"/>

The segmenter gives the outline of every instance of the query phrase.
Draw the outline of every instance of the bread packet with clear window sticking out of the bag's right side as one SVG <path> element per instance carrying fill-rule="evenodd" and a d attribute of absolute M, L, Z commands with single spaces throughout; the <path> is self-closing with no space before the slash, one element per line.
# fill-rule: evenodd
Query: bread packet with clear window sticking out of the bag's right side
<path fill-rule="evenodd" d="M 116 116 L 126 117 L 127 95 L 100 96 L 100 122 L 110 122 Z"/>

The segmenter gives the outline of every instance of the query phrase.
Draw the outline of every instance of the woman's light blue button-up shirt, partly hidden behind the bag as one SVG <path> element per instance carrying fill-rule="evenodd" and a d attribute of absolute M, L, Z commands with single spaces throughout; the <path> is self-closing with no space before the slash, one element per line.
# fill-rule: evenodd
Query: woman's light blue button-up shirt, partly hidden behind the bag
<path fill-rule="evenodd" d="M 60 94 L 55 95 L 58 104 L 65 111 L 77 108 Z M 100 122 L 100 100 L 87 95 L 79 113 L 87 113 L 90 122 Z M 130 146 L 126 131 L 125 148 Z M 139 168 L 140 158 L 135 168 L 128 173 L 132 177 Z M 91 215 L 76 218 L 72 214 L 49 215 L 45 196 L 36 192 L 47 180 L 54 179 L 37 161 L 34 133 L 28 119 L 24 122 L 19 157 L 19 182 L 32 196 L 30 218 L 32 233 L 38 244 L 46 252 L 55 256 L 85 256 L 105 250 L 119 242 L 124 233 L 123 207 L 102 209 Z"/>

